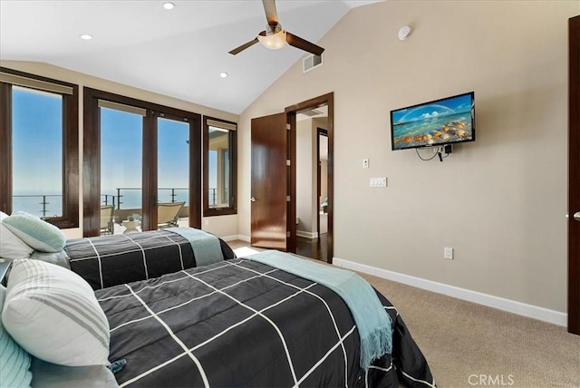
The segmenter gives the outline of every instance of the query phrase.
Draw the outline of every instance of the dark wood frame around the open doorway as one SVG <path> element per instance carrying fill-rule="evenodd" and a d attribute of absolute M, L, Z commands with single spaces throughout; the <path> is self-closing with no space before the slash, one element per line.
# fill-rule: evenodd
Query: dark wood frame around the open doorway
<path fill-rule="evenodd" d="M 334 215 L 334 93 L 330 92 L 304 102 L 298 102 L 285 108 L 286 122 L 289 124 L 288 155 L 290 157 L 290 176 L 288 177 L 290 202 L 288 205 L 288 225 L 290 231 L 288 250 L 295 252 L 296 247 L 296 113 L 320 106 L 328 106 L 328 232 L 326 235 L 327 257 L 329 264 L 333 263 L 333 215 Z"/>

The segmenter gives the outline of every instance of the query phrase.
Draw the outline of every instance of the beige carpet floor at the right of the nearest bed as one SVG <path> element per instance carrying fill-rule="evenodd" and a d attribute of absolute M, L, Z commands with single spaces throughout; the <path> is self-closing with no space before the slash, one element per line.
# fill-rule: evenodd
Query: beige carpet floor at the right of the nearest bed
<path fill-rule="evenodd" d="M 580 387 L 580 336 L 565 327 L 361 276 L 397 307 L 439 387 Z"/>

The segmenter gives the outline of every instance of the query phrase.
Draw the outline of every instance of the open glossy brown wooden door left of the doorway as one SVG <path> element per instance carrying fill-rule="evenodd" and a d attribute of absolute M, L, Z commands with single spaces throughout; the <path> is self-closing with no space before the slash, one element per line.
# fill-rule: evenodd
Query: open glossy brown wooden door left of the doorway
<path fill-rule="evenodd" d="M 286 115 L 252 119 L 251 128 L 251 245 L 287 250 Z"/>

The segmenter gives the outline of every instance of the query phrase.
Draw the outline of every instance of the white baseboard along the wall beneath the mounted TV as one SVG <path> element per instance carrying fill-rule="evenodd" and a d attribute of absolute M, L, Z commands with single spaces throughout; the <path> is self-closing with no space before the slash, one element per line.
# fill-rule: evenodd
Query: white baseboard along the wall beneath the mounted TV
<path fill-rule="evenodd" d="M 389 271 L 387 269 L 354 263 L 353 261 L 343 260 L 342 258 L 338 257 L 333 257 L 333 264 L 338 267 L 344 267 L 352 269 L 353 271 L 362 272 L 364 274 L 379 276 L 387 280 L 392 280 L 408 286 L 415 286 L 438 294 L 457 297 L 458 299 L 467 300 L 469 302 L 477 303 L 478 305 L 498 308 L 499 310 L 507 311 L 508 313 L 517 315 L 524 315 L 529 318 L 549 322 L 550 324 L 560 326 L 567 325 L 567 314 L 544 307 L 527 305 L 515 300 L 510 300 L 499 296 L 491 296 L 488 294 L 480 293 L 478 291 L 459 288 L 457 286 L 444 285 L 442 283 L 433 282 L 431 280 L 422 279 L 420 277 L 403 275 L 397 272 Z"/>

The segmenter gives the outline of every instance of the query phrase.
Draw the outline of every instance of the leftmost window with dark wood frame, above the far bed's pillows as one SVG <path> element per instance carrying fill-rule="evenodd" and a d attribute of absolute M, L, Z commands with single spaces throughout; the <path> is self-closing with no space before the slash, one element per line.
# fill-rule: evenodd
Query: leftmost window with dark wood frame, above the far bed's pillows
<path fill-rule="evenodd" d="M 78 87 L 0 68 L 0 101 L 0 209 L 78 228 Z"/>

